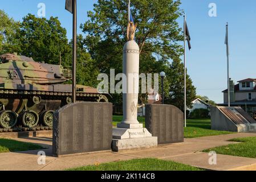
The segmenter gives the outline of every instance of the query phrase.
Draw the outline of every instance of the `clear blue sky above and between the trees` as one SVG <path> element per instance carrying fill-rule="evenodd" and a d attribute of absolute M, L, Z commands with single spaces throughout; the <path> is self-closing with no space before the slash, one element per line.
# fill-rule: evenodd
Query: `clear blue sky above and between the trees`
<path fill-rule="evenodd" d="M 255 0 L 181 0 L 187 15 L 192 49 L 187 54 L 188 73 L 197 94 L 222 103 L 226 89 L 225 24 L 229 22 L 230 77 L 236 82 L 256 78 L 256 1 Z M 64 10 L 64 0 L 9 0 L 0 1 L 0 9 L 15 20 L 28 13 L 37 14 L 38 3 L 46 5 L 46 18 L 58 16 L 67 36 L 72 36 L 72 15 Z M 78 25 L 87 20 L 87 11 L 96 0 L 78 0 Z M 216 3 L 217 17 L 208 15 L 209 3 Z M 182 18 L 178 22 L 182 26 Z M 81 31 L 78 31 L 81 33 Z"/>

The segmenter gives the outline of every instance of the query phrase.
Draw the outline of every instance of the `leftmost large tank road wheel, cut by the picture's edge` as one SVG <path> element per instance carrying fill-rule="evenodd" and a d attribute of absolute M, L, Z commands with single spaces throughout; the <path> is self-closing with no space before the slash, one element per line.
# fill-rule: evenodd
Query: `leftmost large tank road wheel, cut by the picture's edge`
<path fill-rule="evenodd" d="M 11 110 L 2 110 L 0 112 L 0 125 L 3 129 L 11 129 L 17 123 L 17 114 Z"/>

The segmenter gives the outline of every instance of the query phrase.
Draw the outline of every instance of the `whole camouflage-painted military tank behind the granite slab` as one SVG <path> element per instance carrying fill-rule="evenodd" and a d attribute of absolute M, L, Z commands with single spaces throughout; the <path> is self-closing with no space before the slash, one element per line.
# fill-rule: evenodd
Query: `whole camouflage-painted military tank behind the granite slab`
<path fill-rule="evenodd" d="M 54 111 L 70 104 L 71 71 L 7 53 L 0 56 L 0 132 L 51 129 Z M 108 102 L 104 94 L 77 85 L 78 101 Z"/>

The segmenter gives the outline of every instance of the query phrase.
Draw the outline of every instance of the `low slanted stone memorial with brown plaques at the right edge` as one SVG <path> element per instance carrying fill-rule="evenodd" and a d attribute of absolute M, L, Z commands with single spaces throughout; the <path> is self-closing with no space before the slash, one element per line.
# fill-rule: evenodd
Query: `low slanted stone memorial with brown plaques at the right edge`
<path fill-rule="evenodd" d="M 255 132 L 256 121 L 241 107 L 217 106 L 211 108 L 212 130 Z"/>

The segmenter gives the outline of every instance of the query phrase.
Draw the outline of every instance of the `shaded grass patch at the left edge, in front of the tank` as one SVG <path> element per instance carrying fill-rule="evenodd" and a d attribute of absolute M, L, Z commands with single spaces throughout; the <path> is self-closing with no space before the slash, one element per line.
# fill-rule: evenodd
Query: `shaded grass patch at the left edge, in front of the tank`
<path fill-rule="evenodd" d="M 16 140 L 0 138 L 0 153 L 40 150 L 40 149 L 43 149 L 43 147 L 39 146 L 38 144 L 18 142 Z"/>

